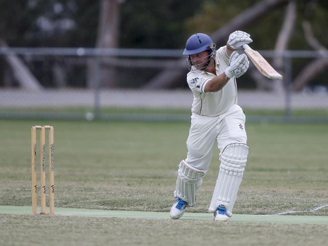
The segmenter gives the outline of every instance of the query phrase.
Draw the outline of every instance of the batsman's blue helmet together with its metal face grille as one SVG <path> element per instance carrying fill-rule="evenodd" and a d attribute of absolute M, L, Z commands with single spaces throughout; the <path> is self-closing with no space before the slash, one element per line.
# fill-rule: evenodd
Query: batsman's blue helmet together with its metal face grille
<path fill-rule="evenodd" d="M 200 53 L 202 51 L 209 50 L 209 55 L 207 56 L 208 59 L 203 63 L 204 66 L 201 68 L 196 68 L 193 66 L 191 62 L 190 55 Z M 186 42 L 186 48 L 183 51 L 183 54 L 188 55 L 187 57 L 187 67 L 190 71 L 195 72 L 198 71 L 204 71 L 209 66 L 211 59 L 214 59 L 215 57 L 215 43 L 211 40 L 211 38 L 204 33 L 196 33 L 191 35 L 187 42 Z M 198 66 L 197 66 L 198 67 Z"/>

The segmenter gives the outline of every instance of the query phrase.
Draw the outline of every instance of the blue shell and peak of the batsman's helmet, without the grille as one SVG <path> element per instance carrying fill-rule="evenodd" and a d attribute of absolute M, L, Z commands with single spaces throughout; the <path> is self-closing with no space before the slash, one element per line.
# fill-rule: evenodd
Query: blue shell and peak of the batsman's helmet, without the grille
<path fill-rule="evenodd" d="M 188 38 L 183 54 L 196 54 L 204 50 L 211 50 L 212 48 L 215 48 L 215 43 L 207 34 L 195 33 Z"/>

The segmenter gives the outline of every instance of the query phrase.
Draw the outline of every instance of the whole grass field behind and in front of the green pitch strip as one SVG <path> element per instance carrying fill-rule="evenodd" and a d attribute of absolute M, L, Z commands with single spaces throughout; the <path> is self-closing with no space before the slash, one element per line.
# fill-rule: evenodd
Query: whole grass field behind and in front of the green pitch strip
<path fill-rule="evenodd" d="M 54 126 L 56 207 L 170 210 L 174 172 L 186 155 L 189 122 L 0 120 L 0 207 L 31 206 L 34 125 Z M 238 216 L 214 223 L 161 217 L 32 216 L 1 209 L 0 244 L 171 245 L 181 240 L 180 245 L 324 245 L 328 225 L 320 221 L 322 216 L 328 220 L 328 125 L 247 124 L 246 130 L 250 154 L 234 213 L 299 211 L 291 215 L 317 216 L 317 223 L 315 217 L 311 224 L 238 221 Z M 214 148 L 197 205 L 188 212 L 206 212 L 218 165 Z M 41 237 L 41 229 L 50 232 Z"/>

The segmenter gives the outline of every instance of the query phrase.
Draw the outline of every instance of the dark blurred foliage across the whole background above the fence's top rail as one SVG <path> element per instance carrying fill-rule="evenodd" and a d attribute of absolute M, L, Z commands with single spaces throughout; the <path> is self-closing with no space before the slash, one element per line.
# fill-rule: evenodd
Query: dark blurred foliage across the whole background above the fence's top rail
<path fill-rule="evenodd" d="M 0 0 L 0 38 L 4 39 L 9 46 L 95 47 L 97 37 L 99 37 L 97 26 L 101 25 L 100 2 L 100 0 Z M 287 3 L 289 1 L 127 0 L 118 10 L 120 35 L 116 38 L 117 46 L 183 48 L 190 34 L 214 33 L 245 10 L 264 2 Z M 309 21 L 316 39 L 323 46 L 327 46 L 328 33 L 322 30 L 325 30 L 324 25 L 328 22 L 328 1 L 295 0 L 295 2 L 297 19 L 288 48 L 312 48 L 304 38 L 302 29 L 304 20 Z M 254 40 L 253 48 L 273 49 L 275 47 L 278 33 L 284 22 L 284 15 L 284 8 L 271 8 L 252 24 L 246 25 L 248 20 L 245 19 L 243 30 L 251 33 Z M 223 36 L 225 38 L 218 40 L 217 46 L 225 44 L 227 35 Z M 293 63 L 293 70 L 298 72 L 305 66 L 304 59 L 296 60 Z M 61 72 L 60 66 L 57 68 L 59 70 L 56 74 L 65 74 L 65 71 Z M 60 77 L 56 81 L 60 81 Z M 322 83 L 327 82 L 322 81 Z"/>

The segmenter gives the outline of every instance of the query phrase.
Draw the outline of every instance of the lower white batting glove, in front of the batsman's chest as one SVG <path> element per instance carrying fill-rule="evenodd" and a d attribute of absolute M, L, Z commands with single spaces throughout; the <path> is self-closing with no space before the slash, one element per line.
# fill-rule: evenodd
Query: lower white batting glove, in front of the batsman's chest
<path fill-rule="evenodd" d="M 226 69 L 226 76 L 231 79 L 232 77 L 239 78 L 246 73 L 249 67 L 249 60 L 246 54 L 238 54 L 237 51 L 232 52 L 230 56 L 230 65 Z"/>

